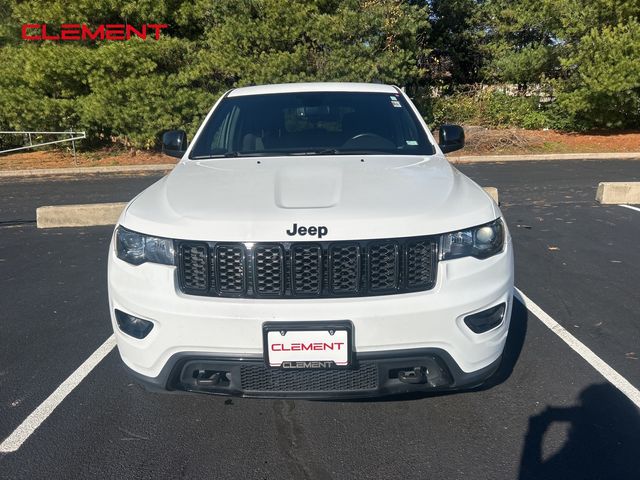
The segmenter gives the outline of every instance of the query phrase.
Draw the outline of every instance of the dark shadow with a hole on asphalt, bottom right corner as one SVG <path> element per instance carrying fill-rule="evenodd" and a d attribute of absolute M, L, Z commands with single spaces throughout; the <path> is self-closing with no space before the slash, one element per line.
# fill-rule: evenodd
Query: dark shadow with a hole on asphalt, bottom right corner
<path fill-rule="evenodd" d="M 568 438 L 543 458 L 545 434 L 558 422 L 569 423 Z M 529 418 L 518 478 L 640 478 L 640 411 L 609 383 L 585 388 L 576 406 L 547 406 Z"/>

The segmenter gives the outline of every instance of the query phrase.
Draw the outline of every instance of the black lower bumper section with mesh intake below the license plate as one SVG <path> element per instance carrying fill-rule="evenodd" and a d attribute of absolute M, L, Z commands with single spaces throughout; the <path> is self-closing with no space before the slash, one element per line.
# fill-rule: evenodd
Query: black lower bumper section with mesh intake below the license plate
<path fill-rule="evenodd" d="M 351 369 L 283 370 L 267 367 L 262 358 L 183 352 L 173 355 L 157 377 L 127 370 L 153 392 L 339 399 L 468 389 L 493 375 L 500 360 L 465 373 L 444 350 L 416 349 L 359 354 Z"/>

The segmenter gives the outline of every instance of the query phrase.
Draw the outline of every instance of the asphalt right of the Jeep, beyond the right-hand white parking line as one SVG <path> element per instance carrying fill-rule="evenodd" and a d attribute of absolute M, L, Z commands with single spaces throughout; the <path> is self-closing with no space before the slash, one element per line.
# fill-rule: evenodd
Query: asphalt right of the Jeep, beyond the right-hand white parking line
<path fill-rule="evenodd" d="M 516 246 L 516 284 L 640 387 L 640 212 L 594 201 L 599 181 L 640 179 L 640 162 L 460 169 L 500 191 Z"/>

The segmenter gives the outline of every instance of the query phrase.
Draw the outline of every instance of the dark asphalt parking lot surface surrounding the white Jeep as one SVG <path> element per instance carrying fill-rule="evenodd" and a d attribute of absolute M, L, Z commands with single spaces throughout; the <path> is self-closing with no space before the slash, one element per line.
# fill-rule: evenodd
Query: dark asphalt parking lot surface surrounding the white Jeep
<path fill-rule="evenodd" d="M 637 392 L 640 211 L 594 198 L 640 180 L 640 162 L 459 168 L 499 189 L 516 286 Z M 35 207 L 125 201 L 157 178 L 0 181 L 0 442 L 111 335 L 112 227 L 38 230 Z M 473 392 L 157 395 L 112 350 L 42 420 L 0 453 L 0 478 L 640 478 L 640 409 L 519 302 L 500 371 Z"/>

